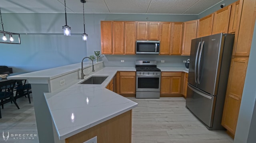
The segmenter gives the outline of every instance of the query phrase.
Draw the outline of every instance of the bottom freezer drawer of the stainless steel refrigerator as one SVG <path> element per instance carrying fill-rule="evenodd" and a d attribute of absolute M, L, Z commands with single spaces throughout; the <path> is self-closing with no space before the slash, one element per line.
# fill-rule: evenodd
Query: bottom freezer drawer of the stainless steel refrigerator
<path fill-rule="evenodd" d="M 188 84 L 186 106 L 208 127 L 212 127 L 216 96 L 211 96 Z"/>

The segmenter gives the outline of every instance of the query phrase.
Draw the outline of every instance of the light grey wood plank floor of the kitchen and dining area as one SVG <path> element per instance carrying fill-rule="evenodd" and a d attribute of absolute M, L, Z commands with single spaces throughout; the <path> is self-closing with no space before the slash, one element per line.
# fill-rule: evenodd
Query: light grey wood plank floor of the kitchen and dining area
<path fill-rule="evenodd" d="M 138 103 L 132 113 L 132 143 L 232 143 L 225 131 L 209 131 L 185 108 L 186 100 L 178 98 L 136 99 Z M 17 99 L 20 110 L 14 104 L 5 104 L 1 109 L 0 143 L 13 134 L 37 134 L 33 98 Z M 39 143 L 34 139 L 13 139 L 8 143 Z"/>

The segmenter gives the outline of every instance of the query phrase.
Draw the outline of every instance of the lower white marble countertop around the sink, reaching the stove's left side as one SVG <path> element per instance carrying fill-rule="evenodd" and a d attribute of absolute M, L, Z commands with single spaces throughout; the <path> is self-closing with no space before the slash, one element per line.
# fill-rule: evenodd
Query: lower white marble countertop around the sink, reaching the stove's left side
<path fill-rule="evenodd" d="M 102 84 L 79 84 L 78 82 L 62 91 L 44 93 L 60 140 L 127 112 L 138 105 L 105 88 L 117 71 L 136 71 L 136 69 L 105 67 L 92 74 L 92 76 L 108 76 Z"/>

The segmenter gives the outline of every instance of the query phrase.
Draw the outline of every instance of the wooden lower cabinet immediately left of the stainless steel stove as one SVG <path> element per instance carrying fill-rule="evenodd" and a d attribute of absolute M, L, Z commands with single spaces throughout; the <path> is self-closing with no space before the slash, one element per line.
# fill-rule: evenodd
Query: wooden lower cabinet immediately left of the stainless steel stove
<path fill-rule="evenodd" d="M 125 97 L 135 97 L 136 94 L 136 72 L 117 73 L 117 93 Z"/>

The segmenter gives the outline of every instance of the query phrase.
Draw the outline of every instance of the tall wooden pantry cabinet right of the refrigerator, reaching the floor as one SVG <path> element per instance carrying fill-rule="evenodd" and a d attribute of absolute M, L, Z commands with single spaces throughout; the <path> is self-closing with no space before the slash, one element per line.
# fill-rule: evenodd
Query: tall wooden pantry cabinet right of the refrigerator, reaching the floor
<path fill-rule="evenodd" d="M 222 126 L 227 129 L 227 133 L 232 137 L 236 133 L 236 124 L 256 20 L 256 0 L 240 0 L 239 3 L 233 4 L 233 8 L 236 9 L 235 12 L 237 12 L 238 4 L 239 10 L 238 13 L 235 13 L 237 14 L 237 23 L 234 47 L 222 115 Z"/>

